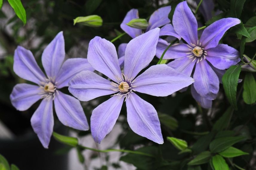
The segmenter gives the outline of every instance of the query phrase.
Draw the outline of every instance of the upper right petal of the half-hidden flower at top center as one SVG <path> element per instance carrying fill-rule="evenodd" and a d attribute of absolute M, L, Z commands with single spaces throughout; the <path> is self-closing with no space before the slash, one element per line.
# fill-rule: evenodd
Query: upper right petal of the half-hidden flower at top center
<path fill-rule="evenodd" d="M 161 27 L 165 24 L 170 23 L 168 18 L 169 13 L 171 12 L 171 6 L 161 7 L 156 10 L 149 18 L 148 27 L 146 31 L 152 30 L 157 27 Z"/>

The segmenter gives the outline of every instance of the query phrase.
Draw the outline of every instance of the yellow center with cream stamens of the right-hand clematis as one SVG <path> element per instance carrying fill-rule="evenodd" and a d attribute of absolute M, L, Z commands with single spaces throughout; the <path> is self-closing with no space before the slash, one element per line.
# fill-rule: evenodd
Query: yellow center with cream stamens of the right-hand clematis
<path fill-rule="evenodd" d="M 196 63 L 199 63 L 199 61 L 202 61 L 202 56 L 205 59 L 205 56 L 207 55 L 207 51 L 205 51 L 202 47 L 201 47 L 201 43 L 199 43 L 199 41 L 197 40 L 197 45 L 191 43 L 191 44 L 187 44 L 188 49 L 191 52 L 188 52 L 186 54 L 188 54 L 188 58 L 193 58 L 192 62 L 194 62 L 195 60 Z"/>

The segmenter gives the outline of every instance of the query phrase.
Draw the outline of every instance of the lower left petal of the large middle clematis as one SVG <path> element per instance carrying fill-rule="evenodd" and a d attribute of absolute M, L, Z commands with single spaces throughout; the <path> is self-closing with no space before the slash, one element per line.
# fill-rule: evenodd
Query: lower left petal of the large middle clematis
<path fill-rule="evenodd" d="M 101 103 L 92 111 L 91 131 L 95 142 L 101 140 L 113 129 L 120 114 L 124 98 L 113 96 L 109 100 Z"/>

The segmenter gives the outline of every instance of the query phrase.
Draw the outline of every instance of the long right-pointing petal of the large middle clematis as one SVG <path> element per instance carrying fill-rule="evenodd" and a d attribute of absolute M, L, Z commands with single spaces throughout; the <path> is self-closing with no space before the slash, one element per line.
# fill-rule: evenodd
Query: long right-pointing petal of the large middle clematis
<path fill-rule="evenodd" d="M 191 85 L 193 78 L 168 67 L 166 64 L 151 66 L 133 83 L 137 92 L 153 96 L 168 96 Z"/>

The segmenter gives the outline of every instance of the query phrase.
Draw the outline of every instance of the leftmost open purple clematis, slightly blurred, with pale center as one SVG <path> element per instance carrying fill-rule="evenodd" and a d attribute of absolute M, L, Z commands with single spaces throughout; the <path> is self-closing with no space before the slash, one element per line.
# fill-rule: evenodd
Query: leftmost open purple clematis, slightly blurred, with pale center
<path fill-rule="evenodd" d="M 13 88 L 10 100 L 17 110 L 24 111 L 39 99 L 43 99 L 31 118 L 31 125 L 45 148 L 48 148 L 53 132 L 53 101 L 61 123 L 74 129 L 89 129 L 79 100 L 58 89 L 68 86 L 68 81 L 77 73 L 83 70 L 94 71 L 94 69 L 85 58 L 71 58 L 63 63 L 64 58 L 65 45 L 62 32 L 58 33 L 43 51 L 42 64 L 47 76 L 36 64 L 30 50 L 18 46 L 14 53 L 14 72 L 37 85 L 17 84 Z"/>

